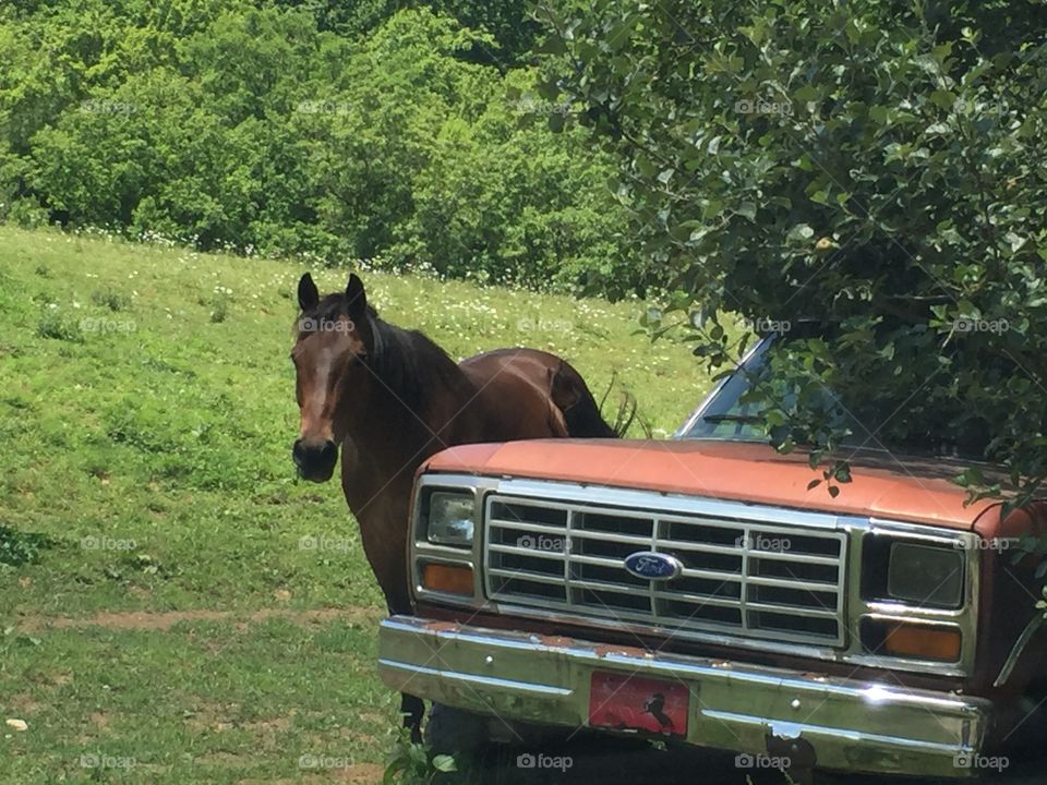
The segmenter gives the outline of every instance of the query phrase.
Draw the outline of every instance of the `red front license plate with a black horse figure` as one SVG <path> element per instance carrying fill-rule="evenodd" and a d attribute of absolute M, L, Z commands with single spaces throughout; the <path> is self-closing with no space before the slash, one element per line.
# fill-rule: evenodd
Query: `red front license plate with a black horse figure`
<path fill-rule="evenodd" d="M 589 689 L 589 724 L 686 736 L 688 697 L 679 681 L 597 671 Z"/>

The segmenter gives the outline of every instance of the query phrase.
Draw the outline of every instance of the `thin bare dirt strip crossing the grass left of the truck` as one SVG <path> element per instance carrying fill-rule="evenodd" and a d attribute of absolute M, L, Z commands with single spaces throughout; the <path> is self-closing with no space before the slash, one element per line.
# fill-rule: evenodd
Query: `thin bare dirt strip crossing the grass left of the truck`
<path fill-rule="evenodd" d="M 293 611 L 291 608 L 262 608 L 250 613 L 238 611 L 128 611 L 103 612 L 94 616 L 26 616 L 17 624 L 19 632 L 39 632 L 49 629 L 83 629 L 101 627 L 113 630 L 168 630 L 182 621 L 232 621 L 241 628 L 272 618 L 280 618 L 299 625 L 323 625 L 329 621 L 350 620 L 373 623 L 384 614 L 374 607 L 316 608 Z"/>

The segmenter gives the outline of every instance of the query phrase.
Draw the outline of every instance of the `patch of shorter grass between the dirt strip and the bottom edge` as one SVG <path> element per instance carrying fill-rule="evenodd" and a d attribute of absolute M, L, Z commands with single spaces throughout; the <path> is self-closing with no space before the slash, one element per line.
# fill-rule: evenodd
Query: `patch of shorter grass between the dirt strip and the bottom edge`
<path fill-rule="evenodd" d="M 28 723 L 0 747 L 4 783 L 298 782 L 303 756 L 377 773 L 369 760 L 392 742 L 370 624 L 88 628 L 3 648 L 4 711 Z"/>

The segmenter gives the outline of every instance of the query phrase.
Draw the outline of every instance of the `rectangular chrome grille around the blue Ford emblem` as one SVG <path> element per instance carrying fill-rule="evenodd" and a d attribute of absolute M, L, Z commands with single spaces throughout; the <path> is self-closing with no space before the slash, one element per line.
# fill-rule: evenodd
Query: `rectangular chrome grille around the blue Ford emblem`
<path fill-rule="evenodd" d="M 484 581 L 501 603 L 616 618 L 661 630 L 844 643 L 846 535 L 766 520 L 491 494 Z M 625 558 L 679 559 L 669 581 Z"/>

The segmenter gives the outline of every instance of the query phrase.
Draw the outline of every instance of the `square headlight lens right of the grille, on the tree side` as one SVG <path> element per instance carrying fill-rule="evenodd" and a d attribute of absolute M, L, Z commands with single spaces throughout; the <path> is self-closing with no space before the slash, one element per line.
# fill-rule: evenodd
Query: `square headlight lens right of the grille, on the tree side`
<path fill-rule="evenodd" d="M 934 545 L 894 543 L 887 592 L 895 600 L 929 607 L 963 604 L 964 552 Z"/>

